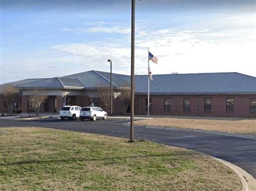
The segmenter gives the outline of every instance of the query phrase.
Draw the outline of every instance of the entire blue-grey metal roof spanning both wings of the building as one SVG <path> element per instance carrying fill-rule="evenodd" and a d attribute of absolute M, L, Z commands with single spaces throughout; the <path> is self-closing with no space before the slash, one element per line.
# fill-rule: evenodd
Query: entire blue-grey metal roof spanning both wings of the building
<path fill-rule="evenodd" d="M 147 75 L 136 75 L 136 94 L 147 94 Z M 130 87 L 130 76 L 112 74 L 113 88 Z M 96 89 L 110 86 L 110 73 L 87 71 L 49 79 L 26 79 L 12 83 L 17 88 Z M 3 84 L 4 85 L 4 84 Z M 0 85 L 0 88 L 1 86 Z M 256 77 L 240 73 L 153 75 L 150 93 L 161 94 L 256 94 Z"/>

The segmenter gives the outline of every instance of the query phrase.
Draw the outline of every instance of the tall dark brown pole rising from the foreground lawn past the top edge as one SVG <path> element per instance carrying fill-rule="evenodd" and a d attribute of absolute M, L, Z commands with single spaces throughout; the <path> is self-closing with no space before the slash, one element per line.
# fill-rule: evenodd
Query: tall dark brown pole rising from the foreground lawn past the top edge
<path fill-rule="evenodd" d="M 135 0 L 132 1 L 131 20 L 131 122 L 130 142 L 134 142 L 134 40 L 135 40 Z"/>

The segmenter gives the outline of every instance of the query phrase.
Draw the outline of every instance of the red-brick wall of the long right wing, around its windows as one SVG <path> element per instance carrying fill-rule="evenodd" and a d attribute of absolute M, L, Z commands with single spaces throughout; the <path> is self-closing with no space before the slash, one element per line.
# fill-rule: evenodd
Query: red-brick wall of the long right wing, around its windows
<path fill-rule="evenodd" d="M 147 95 L 136 96 L 135 114 L 146 115 Z M 151 115 L 256 117 L 250 114 L 250 98 L 256 95 L 151 95 Z M 164 111 L 164 98 L 171 99 L 171 111 Z M 184 98 L 190 98 L 190 112 L 184 112 Z M 212 110 L 205 112 L 204 99 L 211 98 Z M 226 98 L 234 98 L 234 112 L 226 112 Z M 139 104 L 140 103 L 140 104 Z"/>

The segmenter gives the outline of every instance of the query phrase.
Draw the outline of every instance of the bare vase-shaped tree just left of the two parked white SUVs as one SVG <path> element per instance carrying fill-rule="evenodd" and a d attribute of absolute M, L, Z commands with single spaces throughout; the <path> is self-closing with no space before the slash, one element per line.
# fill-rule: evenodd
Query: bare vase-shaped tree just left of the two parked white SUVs
<path fill-rule="evenodd" d="M 40 106 L 48 97 L 45 90 L 43 89 L 30 89 L 27 91 L 28 99 L 32 105 L 32 108 L 35 109 L 36 115 L 39 115 Z"/>

